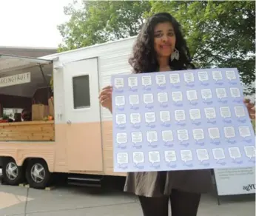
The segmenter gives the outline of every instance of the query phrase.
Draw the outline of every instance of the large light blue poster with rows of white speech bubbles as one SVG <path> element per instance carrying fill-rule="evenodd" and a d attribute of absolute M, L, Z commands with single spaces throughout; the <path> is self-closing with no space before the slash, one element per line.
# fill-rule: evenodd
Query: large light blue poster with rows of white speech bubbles
<path fill-rule="evenodd" d="M 112 76 L 115 172 L 255 166 L 235 68 Z"/>

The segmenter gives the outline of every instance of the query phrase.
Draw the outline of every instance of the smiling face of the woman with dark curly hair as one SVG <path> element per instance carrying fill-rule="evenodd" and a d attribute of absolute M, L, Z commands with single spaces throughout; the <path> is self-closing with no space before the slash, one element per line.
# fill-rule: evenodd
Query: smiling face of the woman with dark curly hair
<path fill-rule="evenodd" d="M 154 30 L 154 48 L 159 57 L 169 57 L 175 49 L 176 37 L 170 22 L 159 23 Z"/>

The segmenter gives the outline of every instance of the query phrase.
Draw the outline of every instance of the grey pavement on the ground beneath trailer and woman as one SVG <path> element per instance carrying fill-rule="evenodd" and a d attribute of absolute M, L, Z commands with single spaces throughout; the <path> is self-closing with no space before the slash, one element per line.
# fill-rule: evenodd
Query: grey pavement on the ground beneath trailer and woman
<path fill-rule="evenodd" d="M 64 186 L 52 191 L 0 186 L 0 215 L 17 216 L 131 216 L 142 215 L 138 199 L 114 189 Z M 255 216 L 255 195 L 222 198 L 203 195 L 198 216 Z M 25 214 L 26 212 L 26 214 Z"/>

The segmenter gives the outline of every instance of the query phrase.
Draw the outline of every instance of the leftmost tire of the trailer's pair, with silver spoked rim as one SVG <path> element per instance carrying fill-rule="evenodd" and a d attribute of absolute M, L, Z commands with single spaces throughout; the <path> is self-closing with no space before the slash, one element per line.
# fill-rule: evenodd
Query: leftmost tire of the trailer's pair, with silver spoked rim
<path fill-rule="evenodd" d="M 13 158 L 3 160 L 2 179 L 8 185 L 18 185 L 24 182 L 23 166 L 18 166 Z"/>

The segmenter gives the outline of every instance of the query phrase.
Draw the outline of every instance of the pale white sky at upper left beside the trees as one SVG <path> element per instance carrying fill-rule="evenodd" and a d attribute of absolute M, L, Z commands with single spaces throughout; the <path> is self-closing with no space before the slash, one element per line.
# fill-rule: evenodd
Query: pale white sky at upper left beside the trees
<path fill-rule="evenodd" d="M 58 47 L 57 25 L 73 0 L 0 0 L 0 46 Z"/>

